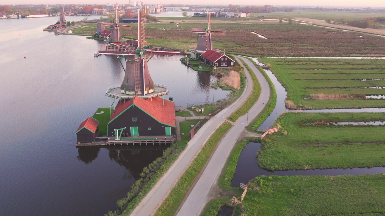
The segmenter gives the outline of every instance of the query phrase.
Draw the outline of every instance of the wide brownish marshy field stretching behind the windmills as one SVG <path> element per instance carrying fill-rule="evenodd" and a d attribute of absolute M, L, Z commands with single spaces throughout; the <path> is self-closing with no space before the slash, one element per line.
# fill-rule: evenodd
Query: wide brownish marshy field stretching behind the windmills
<path fill-rule="evenodd" d="M 385 41 L 381 37 L 297 23 L 256 22 L 256 19 L 213 18 L 211 27 L 214 30 L 227 31 L 225 36 L 213 36 L 213 47 L 226 53 L 248 56 L 385 55 Z M 168 23 L 146 23 L 146 40 L 154 46 L 187 50 L 196 48 L 197 36 L 191 29 L 205 28 L 207 23 L 195 18 L 180 21 L 179 27 Z M 96 24 L 87 26 L 72 32 L 93 34 Z M 121 34 L 136 38 L 136 27 L 136 24 L 132 24 L 131 30 L 122 28 Z M 252 31 L 268 39 L 260 38 Z"/>

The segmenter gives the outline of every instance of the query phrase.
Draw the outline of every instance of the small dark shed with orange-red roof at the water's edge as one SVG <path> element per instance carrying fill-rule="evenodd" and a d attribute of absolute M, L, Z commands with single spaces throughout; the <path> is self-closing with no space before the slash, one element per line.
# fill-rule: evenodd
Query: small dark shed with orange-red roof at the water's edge
<path fill-rule="evenodd" d="M 99 132 L 99 123 L 100 122 L 98 120 L 92 118 L 91 116 L 84 120 L 75 132 L 77 142 L 92 143 Z"/>

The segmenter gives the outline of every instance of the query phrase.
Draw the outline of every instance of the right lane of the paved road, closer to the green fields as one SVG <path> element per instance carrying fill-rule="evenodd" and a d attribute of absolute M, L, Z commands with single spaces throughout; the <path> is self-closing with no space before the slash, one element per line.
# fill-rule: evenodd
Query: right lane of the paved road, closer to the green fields
<path fill-rule="evenodd" d="M 264 106 L 269 100 L 269 83 L 266 81 L 262 73 L 256 69 L 251 61 L 247 60 L 246 58 L 239 58 L 243 59 L 257 76 L 261 85 L 261 95 L 259 96 L 258 101 L 249 110 L 249 116 L 241 116 L 234 123 L 234 126 L 224 136 L 223 140 L 219 143 L 218 148 L 215 150 L 213 156 L 206 166 L 206 169 L 203 171 L 201 177 L 182 205 L 182 208 L 179 210 L 177 216 L 194 216 L 201 214 L 204 206 L 208 202 L 207 199 L 209 191 L 217 182 L 231 150 L 233 149 L 239 135 L 242 133 L 244 127 L 246 126 L 247 118 L 249 122 L 256 118 L 256 116 L 263 110 Z"/>

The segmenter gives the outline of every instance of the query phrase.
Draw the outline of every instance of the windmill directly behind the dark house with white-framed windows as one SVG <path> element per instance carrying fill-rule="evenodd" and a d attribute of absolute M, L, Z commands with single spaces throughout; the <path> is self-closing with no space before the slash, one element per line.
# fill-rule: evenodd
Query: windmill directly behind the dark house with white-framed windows
<path fill-rule="evenodd" d="M 213 31 L 211 30 L 211 15 L 207 12 L 207 28 L 192 28 L 193 33 L 198 35 L 198 45 L 195 50 L 191 52 L 205 52 L 207 50 L 213 50 L 213 44 L 211 43 L 211 35 L 226 35 L 226 31 Z"/>

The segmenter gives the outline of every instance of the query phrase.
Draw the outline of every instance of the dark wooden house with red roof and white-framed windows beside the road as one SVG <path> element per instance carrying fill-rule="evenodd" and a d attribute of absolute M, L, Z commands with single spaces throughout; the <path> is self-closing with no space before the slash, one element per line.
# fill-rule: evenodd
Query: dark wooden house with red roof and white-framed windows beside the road
<path fill-rule="evenodd" d="M 234 60 L 229 58 L 223 53 L 216 52 L 214 50 L 207 50 L 199 56 L 199 60 L 204 63 L 213 66 L 214 68 L 224 68 L 234 66 Z"/>

